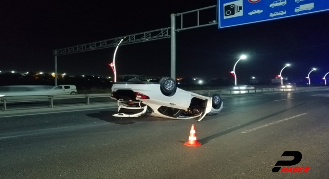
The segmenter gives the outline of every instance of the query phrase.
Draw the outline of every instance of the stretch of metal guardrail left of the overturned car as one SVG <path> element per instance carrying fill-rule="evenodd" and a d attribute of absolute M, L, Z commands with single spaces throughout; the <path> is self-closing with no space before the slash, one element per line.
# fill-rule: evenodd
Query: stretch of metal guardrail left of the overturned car
<path fill-rule="evenodd" d="M 59 99 L 86 99 L 86 104 L 90 105 L 90 98 L 106 98 L 111 97 L 111 94 L 87 94 L 87 95 L 35 95 L 35 96 L 8 96 L 0 97 L 0 101 L 4 103 L 4 110 L 7 110 L 7 103 L 19 102 L 38 102 L 49 101 L 53 108 L 53 101 Z"/>

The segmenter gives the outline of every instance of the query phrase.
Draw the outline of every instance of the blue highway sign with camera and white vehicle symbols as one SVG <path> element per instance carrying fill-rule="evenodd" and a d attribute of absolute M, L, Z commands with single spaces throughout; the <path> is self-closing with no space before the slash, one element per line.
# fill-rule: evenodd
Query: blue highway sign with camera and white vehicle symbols
<path fill-rule="evenodd" d="M 329 10 L 329 0 L 218 0 L 218 28 Z"/>

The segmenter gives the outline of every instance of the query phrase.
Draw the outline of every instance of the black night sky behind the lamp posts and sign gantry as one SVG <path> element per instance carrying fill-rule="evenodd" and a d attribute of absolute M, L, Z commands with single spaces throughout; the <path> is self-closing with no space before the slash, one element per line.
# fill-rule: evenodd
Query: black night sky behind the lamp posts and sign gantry
<path fill-rule="evenodd" d="M 265 1 L 265 0 L 264 0 Z M 289 1 L 289 0 L 288 0 Z M 292 0 L 291 0 L 292 1 Z M 54 49 L 170 27 L 170 14 L 216 5 L 217 1 L 2 1 L 0 3 L 0 71 L 54 71 Z M 205 15 L 205 16 L 203 16 Z M 186 18 L 189 15 L 184 16 Z M 190 17 L 196 17 L 196 14 Z M 200 23 L 215 12 L 200 11 Z M 209 18 L 207 18 L 209 17 Z M 211 19 L 213 17 L 213 19 Z M 189 18 L 187 24 L 195 23 Z M 218 29 L 176 33 L 176 77 L 321 79 L 329 72 L 329 11 Z M 189 22 L 193 21 L 193 22 Z M 180 27 L 180 18 L 176 18 Z M 58 72 L 111 76 L 107 63 L 115 48 L 58 57 Z M 170 38 L 121 46 L 117 72 L 170 76 Z"/>

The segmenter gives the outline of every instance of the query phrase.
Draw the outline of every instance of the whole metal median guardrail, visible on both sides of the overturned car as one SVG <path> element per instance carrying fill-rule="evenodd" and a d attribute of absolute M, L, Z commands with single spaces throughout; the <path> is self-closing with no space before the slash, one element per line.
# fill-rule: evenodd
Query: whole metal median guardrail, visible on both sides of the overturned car
<path fill-rule="evenodd" d="M 189 91 L 199 95 L 220 94 L 223 95 L 236 95 L 236 94 L 269 94 L 269 93 L 280 93 L 280 92 L 294 92 L 294 91 L 314 91 L 314 90 L 327 89 L 329 86 L 321 87 L 294 87 L 294 88 L 259 88 L 259 89 L 222 89 L 222 90 L 197 90 Z M 38 101 L 49 101 L 51 108 L 53 108 L 53 101 L 59 99 L 79 99 L 85 98 L 86 104 L 90 105 L 90 98 L 106 98 L 111 97 L 111 94 L 87 94 L 87 95 L 40 95 L 40 96 L 9 96 L 0 97 L 0 101 L 4 104 L 4 110 L 7 110 L 7 103 L 19 103 L 19 102 L 38 102 Z"/>

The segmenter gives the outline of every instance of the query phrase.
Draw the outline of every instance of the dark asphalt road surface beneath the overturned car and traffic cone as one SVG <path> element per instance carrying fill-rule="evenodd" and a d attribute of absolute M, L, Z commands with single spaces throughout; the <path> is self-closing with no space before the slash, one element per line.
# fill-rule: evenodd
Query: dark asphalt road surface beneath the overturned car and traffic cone
<path fill-rule="evenodd" d="M 329 91 L 223 99 L 202 122 L 117 108 L 0 117 L 0 178 L 327 178 Z M 188 147 L 195 124 L 200 147 Z M 300 151 L 307 173 L 273 173 Z"/>

